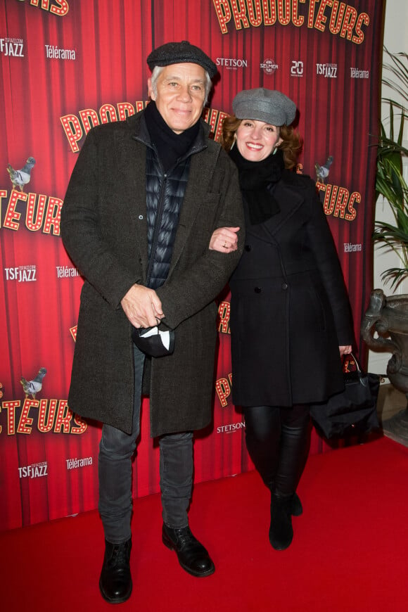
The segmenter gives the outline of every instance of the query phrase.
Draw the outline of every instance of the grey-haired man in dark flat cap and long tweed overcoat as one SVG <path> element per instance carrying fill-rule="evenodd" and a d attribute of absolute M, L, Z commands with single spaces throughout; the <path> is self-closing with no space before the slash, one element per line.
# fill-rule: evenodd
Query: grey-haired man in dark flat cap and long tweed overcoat
<path fill-rule="evenodd" d="M 183 41 L 152 51 L 148 65 L 151 102 L 126 121 L 91 129 L 61 215 L 64 245 L 86 279 L 68 401 L 103 422 L 99 586 L 111 603 L 132 592 L 131 460 L 142 378 L 160 445 L 162 541 L 190 574 L 215 570 L 187 517 L 193 430 L 211 420 L 214 299 L 242 250 L 240 232 L 226 241 L 220 230 L 223 253 L 209 248 L 218 227 L 243 227 L 235 167 L 200 119 L 215 64 Z M 174 336 L 174 352 L 146 357 L 132 333 L 158 323 Z"/>

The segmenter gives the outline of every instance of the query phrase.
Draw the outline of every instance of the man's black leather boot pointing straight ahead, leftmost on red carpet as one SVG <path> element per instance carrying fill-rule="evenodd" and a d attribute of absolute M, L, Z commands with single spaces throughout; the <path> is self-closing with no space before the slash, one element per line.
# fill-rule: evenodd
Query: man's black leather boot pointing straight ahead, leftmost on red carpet
<path fill-rule="evenodd" d="M 105 540 L 105 557 L 99 589 L 103 599 L 110 604 L 122 604 L 132 593 L 132 576 L 130 575 L 130 550 L 132 540 L 122 544 L 110 544 Z"/>

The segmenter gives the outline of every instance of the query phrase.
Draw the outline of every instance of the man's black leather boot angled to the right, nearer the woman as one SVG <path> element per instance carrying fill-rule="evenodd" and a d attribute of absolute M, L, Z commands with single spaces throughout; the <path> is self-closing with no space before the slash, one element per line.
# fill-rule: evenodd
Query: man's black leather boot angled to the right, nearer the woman
<path fill-rule="evenodd" d="M 163 523 L 162 542 L 174 550 L 181 567 L 197 578 L 209 576 L 215 572 L 214 563 L 207 550 L 190 531 L 189 526 L 172 529 Z"/>

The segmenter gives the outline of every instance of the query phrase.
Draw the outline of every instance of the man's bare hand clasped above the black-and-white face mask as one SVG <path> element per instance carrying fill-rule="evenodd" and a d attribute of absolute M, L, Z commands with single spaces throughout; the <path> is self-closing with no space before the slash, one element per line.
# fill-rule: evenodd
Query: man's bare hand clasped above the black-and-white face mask
<path fill-rule="evenodd" d="M 120 303 L 134 327 L 154 327 L 165 316 L 157 293 L 143 285 L 132 285 Z"/>

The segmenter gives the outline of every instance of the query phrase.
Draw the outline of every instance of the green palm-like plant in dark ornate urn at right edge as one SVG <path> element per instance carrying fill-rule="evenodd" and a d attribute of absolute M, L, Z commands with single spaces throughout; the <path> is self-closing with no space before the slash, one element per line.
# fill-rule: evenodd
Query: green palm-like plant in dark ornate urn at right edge
<path fill-rule="evenodd" d="M 388 104 L 388 117 L 380 123 L 376 155 L 376 202 L 388 200 L 391 222 L 376 222 L 373 240 L 393 251 L 400 265 L 381 274 L 384 283 L 395 289 L 408 279 L 408 185 L 403 174 L 403 160 L 408 149 L 403 144 L 404 122 L 408 119 L 408 54 L 390 53 L 390 63 L 383 63 L 382 83 L 398 94 L 398 100 L 381 98 Z M 378 336 L 374 337 L 374 331 Z M 392 352 L 387 375 L 393 385 L 408 394 L 408 295 L 385 297 L 381 289 L 371 293 L 369 307 L 362 321 L 362 338 L 369 348 Z M 396 435 L 408 439 L 408 410 L 393 417 Z"/>

